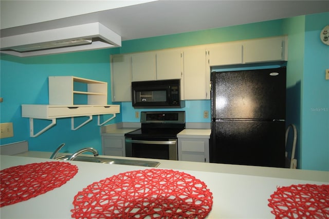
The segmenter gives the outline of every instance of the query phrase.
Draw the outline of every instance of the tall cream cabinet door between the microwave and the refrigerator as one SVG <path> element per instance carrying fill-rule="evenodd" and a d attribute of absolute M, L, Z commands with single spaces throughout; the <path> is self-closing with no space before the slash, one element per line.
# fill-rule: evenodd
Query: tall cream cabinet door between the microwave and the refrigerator
<path fill-rule="evenodd" d="M 205 47 L 184 50 L 184 99 L 210 99 L 210 68 L 206 64 Z"/>

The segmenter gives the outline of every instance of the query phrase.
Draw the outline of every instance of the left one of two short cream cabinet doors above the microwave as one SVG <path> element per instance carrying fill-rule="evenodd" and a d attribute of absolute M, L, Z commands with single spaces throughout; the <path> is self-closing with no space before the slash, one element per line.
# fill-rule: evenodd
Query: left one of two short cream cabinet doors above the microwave
<path fill-rule="evenodd" d="M 133 81 L 156 80 L 155 58 L 154 51 L 132 54 Z"/>

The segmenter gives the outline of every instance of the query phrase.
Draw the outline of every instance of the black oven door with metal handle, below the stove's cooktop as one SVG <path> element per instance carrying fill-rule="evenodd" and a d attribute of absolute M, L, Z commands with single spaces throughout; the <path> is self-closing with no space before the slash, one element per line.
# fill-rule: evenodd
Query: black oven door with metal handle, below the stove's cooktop
<path fill-rule="evenodd" d="M 126 137 L 125 156 L 178 160 L 177 138 L 154 140 L 150 138 Z"/>

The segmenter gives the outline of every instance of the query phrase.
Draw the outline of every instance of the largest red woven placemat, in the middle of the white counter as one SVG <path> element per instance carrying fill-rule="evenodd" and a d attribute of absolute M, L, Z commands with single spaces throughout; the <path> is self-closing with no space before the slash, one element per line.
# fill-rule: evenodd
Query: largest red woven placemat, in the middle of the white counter
<path fill-rule="evenodd" d="M 75 218 L 204 218 L 212 193 L 203 181 L 174 170 L 120 173 L 74 197 Z"/>

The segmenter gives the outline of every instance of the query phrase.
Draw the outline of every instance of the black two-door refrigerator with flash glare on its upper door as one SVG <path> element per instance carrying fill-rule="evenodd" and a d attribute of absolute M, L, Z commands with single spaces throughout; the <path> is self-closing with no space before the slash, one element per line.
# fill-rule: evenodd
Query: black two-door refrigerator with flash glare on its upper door
<path fill-rule="evenodd" d="M 211 72 L 210 162 L 284 167 L 286 68 Z"/>

